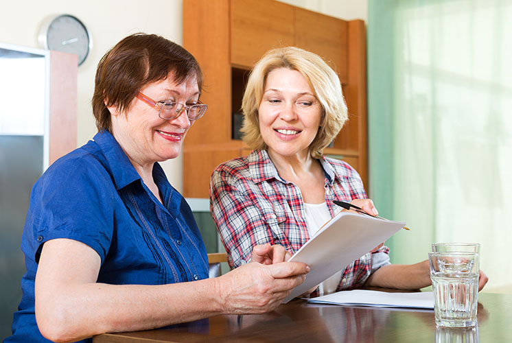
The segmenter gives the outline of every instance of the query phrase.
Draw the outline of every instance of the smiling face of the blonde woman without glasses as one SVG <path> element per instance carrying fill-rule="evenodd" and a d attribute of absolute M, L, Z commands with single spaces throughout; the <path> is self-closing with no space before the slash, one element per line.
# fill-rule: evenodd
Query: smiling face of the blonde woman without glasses
<path fill-rule="evenodd" d="M 307 158 L 322 106 L 299 71 L 279 68 L 267 75 L 258 117 L 270 156 Z"/>

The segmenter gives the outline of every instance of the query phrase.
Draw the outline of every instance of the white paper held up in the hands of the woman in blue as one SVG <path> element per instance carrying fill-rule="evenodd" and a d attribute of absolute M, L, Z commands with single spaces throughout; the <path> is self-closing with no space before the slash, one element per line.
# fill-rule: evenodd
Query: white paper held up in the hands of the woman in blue
<path fill-rule="evenodd" d="M 307 263 L 311 271 L 306 274 L 301 285 L 292 289 L 283 303 L 288 303 L 329 276 L 345 269 L 347 265 L 397 233 L 405 224 L 346 211 L 338 213 L 290 259 Z"/>

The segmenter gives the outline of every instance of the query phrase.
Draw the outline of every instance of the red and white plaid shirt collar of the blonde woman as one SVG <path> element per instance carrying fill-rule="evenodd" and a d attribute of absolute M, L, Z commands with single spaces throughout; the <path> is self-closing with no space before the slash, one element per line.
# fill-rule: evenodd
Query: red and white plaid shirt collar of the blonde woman
<path fill-rule="evenodd" d="M 277 173 L 277 169 L 274 163 L 272 163 L 272 160 L 270 160 L 270 156 L 268 156 L 266 150 L 253 150 L 253 152 L 247 156 L 247 160 L 253 182 L 259 183 L 275 178 L 276 180 L 287 183 L 286 180 L 283 180 Z M 336 169 L 327 161 L 325 156 L 322 156 L 319 161 L 329 184 L 332 184 L 336 178 L 342 178 L 342 176 L 336 173 Z"/>

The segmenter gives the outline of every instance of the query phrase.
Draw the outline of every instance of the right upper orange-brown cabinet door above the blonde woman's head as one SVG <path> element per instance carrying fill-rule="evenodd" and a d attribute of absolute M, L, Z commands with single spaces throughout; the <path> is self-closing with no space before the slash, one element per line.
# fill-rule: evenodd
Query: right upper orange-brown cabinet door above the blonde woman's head
<path fill-rule="evenodd" d="M 295 8 L 295 44 L 320 55 L 347 83 L 347 21 Z"/>

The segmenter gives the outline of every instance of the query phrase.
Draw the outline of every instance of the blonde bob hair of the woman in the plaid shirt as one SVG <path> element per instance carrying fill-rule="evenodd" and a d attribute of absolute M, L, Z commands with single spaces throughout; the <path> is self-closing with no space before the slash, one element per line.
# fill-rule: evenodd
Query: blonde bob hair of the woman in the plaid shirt
<path fill-rule="evenodd" d="M 336 72 L 320 56 L 298 47 L 272 49 L 255 64 L 242 99 L 242 140 L 251 149 L 267 149 L 259 131 L 258 108 L 263 99 L 268 74 L 279 68 L 299 71 L 322 105 L 321 124 L 310 145 L 311 156 L 320 158 L 325 147 L 336 137 L 347 120 L 347 104 Z"/>

